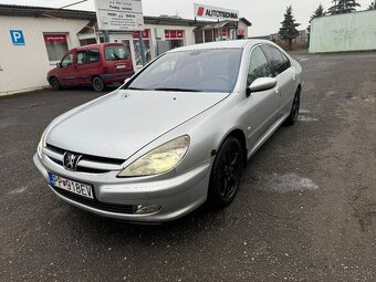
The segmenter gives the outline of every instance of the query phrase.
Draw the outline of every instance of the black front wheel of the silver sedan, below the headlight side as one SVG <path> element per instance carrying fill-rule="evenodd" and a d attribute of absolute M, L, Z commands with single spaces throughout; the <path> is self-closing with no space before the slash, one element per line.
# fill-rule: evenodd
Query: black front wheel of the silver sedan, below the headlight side
<path fill-rule="evenodd" d="M 211 169 L 208 202 L 224 208 L 234 199 L 243 168 L 243 150 L 236 137 L 228 137 L 220 147 Z"/>

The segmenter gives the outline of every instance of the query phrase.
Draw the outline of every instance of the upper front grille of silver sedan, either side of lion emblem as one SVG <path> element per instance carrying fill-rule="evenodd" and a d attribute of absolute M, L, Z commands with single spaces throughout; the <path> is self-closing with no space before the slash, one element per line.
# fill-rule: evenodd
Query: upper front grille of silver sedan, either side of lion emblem
<path fill-rule="evenodd" d="M 121 165 L 125 161 L 125 159 L 119 158 L 106 158 L 106 157 L 98 157 L 93 155 L 85 155 L 77 152 L 71 152 L 63 148 L 55 147 L 51 144 L 46 144 L 46 155 L 49 158 L 58 164 L 59 166 L 63 167 L 63 156 L 66 152 L 81 155 L 80 161 L 77 163 L 76 171 L 79 173 L 87 173 L 87 174 L 104 174 L 112 170 L 119 170 L 122 169 Z M 53 154 L 48 154 L 49 152 Z M 86 163 L 86 166 L 84 165 Z M 91 165 L 88 166 L 90 163 Z"/>

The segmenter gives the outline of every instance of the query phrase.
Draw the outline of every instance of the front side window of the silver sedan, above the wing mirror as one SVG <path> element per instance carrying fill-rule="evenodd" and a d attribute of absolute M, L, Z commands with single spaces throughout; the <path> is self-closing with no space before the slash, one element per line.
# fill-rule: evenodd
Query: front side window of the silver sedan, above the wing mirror
<path fill-rule="evenodd" d="M 247 85 L 251 85 L 251 83 L 259 77 L 272 76 L 272 69 L 261 48 L 254 48 L 251 53 L 250 66 L 248 69 Z"/>

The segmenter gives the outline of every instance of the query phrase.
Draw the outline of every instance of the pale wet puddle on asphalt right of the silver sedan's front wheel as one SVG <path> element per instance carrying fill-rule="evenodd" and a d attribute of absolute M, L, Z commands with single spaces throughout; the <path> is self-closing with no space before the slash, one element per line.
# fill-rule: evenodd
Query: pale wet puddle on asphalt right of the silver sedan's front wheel
<path fill-rule="evenodd" d="M 292 173 L 284 175 L 265 175 L 260 180 L 260 185 L 257 189 L 268 192 L 285 194 L 292 191 L 316 190 L 318 189 L 318 186 L 312 179 Z"/>

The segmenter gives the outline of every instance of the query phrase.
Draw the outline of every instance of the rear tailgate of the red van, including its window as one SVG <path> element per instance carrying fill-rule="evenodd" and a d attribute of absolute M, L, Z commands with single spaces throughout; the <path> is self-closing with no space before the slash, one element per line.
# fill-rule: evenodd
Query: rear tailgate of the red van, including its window
<path fill-rule="evenodd" d="M 133 74 L 133 63 L 124 44 L 111 44 L 104 46 L 104 66 L 106 74 L 128 73 Z"/>

